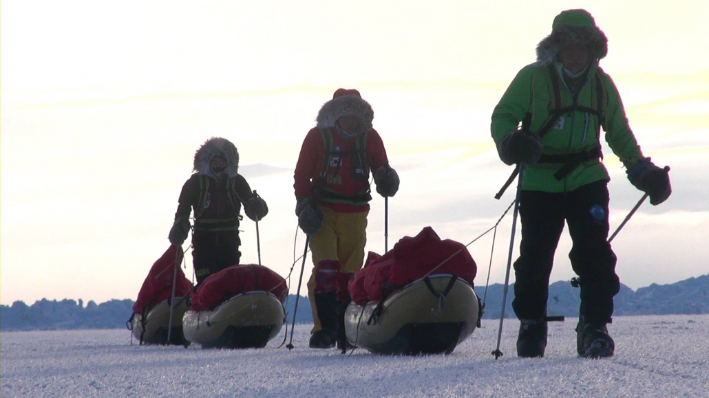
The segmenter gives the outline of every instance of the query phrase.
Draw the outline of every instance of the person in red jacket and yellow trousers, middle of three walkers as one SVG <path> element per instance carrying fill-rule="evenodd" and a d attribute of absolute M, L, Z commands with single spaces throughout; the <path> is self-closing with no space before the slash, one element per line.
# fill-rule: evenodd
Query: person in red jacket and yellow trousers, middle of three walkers
<path fill-rule="evenodd" d="M 384 143 L 372 128 L 374 111 L 357 90 L 338 89 L 306 135 L 294 173 L 298 225 L 308 234 L 313 273 L 311 348 L 346 348 L 347 282 L 364 263 L 369 174 L 384 197 L 396 194 L 399 178 Z"/>

